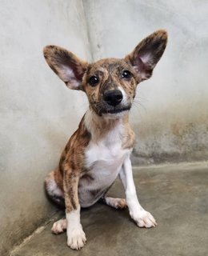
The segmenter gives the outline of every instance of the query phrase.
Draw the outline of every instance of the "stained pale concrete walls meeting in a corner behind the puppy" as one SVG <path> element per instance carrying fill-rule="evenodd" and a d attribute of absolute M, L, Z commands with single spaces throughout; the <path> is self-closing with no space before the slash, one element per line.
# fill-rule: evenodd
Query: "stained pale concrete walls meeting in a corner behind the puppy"
<path fill-rule="evenodd" d="M 1 255 L 53 214 L 43 180 L 88 106 L 46 65 L 47 44 L 87 60 L 122 58 L 168 30 L 166 52 L 131 111 L 133 160 L 208 159 L 207 1 L 2 0 L 0 22 Z"/>

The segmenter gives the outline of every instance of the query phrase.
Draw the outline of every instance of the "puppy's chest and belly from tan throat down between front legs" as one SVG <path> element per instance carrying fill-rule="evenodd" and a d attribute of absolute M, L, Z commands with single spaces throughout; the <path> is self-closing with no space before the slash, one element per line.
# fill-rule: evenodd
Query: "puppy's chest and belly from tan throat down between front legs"
<path fill-rule="evenodd" d="M 93 125 L 96 122 L 96 125 Z M 131 149 L 123 149 L 126 130 L 122 118 L 110 126 L 110 122 L 93 120 L 90 111 L 86 113 L 85 124 L 91 139 L 85 150 L 86 171 L 79 180 L 78 196 L 82 207 L 91 206 L 106 193 L 117 178 L 122 164 Z M 106 129 L 107 128 L 107 129 Z M 98 129 L 98 130 L 97 130 Z"/>

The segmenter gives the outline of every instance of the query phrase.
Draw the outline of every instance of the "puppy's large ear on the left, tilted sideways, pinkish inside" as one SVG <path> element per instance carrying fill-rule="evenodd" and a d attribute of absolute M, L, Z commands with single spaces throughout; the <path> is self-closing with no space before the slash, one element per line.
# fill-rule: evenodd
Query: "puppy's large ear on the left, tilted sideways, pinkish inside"
<path fill-rule="evenodd" d="M 86 71 L 87 62 L 83 62 L 74 54 L 59 46 L 46 46 L 43 49 L 46 62 L 55 74 L 74 90 L 83 90 L 82 78 Z"/>

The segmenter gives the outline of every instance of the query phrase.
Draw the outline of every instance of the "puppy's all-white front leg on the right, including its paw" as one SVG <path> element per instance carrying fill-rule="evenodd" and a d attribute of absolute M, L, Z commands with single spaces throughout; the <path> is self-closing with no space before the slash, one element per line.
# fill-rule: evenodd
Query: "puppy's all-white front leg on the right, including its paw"
<path fill-rule="evenodd" d="M 138 202 L 129 156 L 123 162 L 119 177 L 121 178 L 122 184 L 125 188 L 126 203 L 129 207 L 131 218 L 133 218 L 140 227 L 149 228 L 156 226 L 157 223 L 155 222 L 154 217 L 148 211 L 144 210 Z"/>

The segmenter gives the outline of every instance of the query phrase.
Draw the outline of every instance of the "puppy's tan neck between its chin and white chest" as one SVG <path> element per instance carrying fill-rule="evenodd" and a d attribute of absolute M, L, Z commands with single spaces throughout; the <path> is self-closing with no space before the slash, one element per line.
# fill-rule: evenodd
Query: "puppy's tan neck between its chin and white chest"
<path fill-rule="evenodd" d="M 116 126 L 123 126 L 125 132 L 125 126 L 129 122 L 129 112 L 116 116 L 114 118 L 110 116 L 98 116 L 94 110 L 89 109 L 85 114 L 86 129 L 90 132 L 92 140 L 98 142 L 100 139 L 114 130 Z"/>

